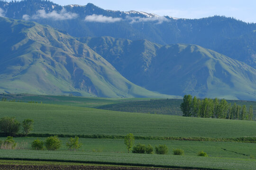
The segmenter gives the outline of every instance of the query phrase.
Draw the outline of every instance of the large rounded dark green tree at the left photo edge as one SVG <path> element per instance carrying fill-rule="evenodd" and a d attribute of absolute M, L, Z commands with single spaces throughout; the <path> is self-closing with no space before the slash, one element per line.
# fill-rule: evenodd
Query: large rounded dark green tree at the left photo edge
<path fill-rule="evenodd" d="M 0 119 L 0 129 L 7 136 L 15 136 L 18 133 L 20 123 L 15 118 L 4 117 Z"/>

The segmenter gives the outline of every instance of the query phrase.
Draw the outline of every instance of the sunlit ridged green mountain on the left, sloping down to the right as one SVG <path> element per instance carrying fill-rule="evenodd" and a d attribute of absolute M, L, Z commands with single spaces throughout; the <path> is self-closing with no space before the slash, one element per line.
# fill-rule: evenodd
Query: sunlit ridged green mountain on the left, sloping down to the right
<path fill-rule="evenodd" d="M 0 92 L 171 97 L 129 82 L 86 44 L 49 26 L 0 17 Z"/>

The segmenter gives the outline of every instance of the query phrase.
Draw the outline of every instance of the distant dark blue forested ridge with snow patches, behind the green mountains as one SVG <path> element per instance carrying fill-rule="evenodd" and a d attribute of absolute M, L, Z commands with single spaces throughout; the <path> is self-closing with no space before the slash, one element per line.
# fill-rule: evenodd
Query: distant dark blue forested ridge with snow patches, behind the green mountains
<path fill-rule="evenodd" d="M 147 39 L 163 45 L 197 44 L 256 68 L 256 24 L 231 17 L 178 19 L 137 11 L 104 10 L 91 3 L 62 7 L 45 0 L 0 0 L 0 8 L 5 17 L 33 20 L 76 37 L 112 36 Z"/>

